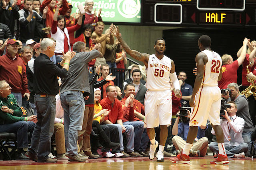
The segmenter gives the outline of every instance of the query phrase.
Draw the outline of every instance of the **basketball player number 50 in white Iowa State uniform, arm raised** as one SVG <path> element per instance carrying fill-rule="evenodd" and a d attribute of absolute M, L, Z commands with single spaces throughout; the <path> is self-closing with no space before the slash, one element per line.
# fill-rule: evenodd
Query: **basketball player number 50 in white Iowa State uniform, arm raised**
<path fill-rule="evenodd" d="M 174 62 L 164 55 L 165 41 L 157 39 L 154 45 L 155 54 L 141 54 L 138 51 L 130 49 L 124 42 L 115 25 L 110 27 L 112 33 L 117 37 L 120 44 L 127 54 L 138 61 L 142 61 L 147 68 L 145 95 L 145 119 L 144 127 L 147 127 L 148 137 L 150 139 L 149 158 L 154 159 L 154 153 L 158 147 L 158 141 L 155 140 L 154 127 L 160 125 L 160 145 L 156 154 L 157 162 L 164 162 L 164 145 L 168 136 L 167 126 L 172 120 L 172 92 L 170 90 L 170 77 L 176 89 L 175 96 L 180 97 L 180 84 L 175 72 Z"/>

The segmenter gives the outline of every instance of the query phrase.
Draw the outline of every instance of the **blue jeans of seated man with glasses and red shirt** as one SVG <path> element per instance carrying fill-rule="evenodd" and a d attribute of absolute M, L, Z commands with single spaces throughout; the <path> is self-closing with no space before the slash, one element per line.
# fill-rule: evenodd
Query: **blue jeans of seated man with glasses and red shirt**
<path fill-rule="evenodd" d="M 124 140 L 122 135 L 122 127 L 119 124 L 107 124 L 108 126 L 116 126 L 118 128 L 120 151 L 124 150 Z M 134 127 L 132 125 L 124 125 L 126 135 L 126 148 L 127 152 L 134 152 Z"/>

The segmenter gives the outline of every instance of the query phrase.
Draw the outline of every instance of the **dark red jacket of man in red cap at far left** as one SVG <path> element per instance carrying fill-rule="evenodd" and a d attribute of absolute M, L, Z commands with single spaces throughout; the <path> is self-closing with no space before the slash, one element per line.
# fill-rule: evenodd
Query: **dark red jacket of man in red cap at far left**
<path fill-rule="evenodd" d="M 8 51 L 6 55 L 0 56 L 0 80 L 6 80 L 14 93 L 20 93 L 22 89 L 29 92 L 28 79 L 23 65 L 23 60 L 18 53 L 14 60 Z"/>

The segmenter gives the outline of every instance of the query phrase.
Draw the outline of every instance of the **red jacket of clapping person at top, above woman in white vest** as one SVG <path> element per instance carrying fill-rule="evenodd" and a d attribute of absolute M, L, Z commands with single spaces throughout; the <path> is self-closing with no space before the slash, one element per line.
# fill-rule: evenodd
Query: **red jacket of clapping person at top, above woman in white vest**
<path fill-rule="evenodd" d="M 44 8 L 50 4 L 52 0 L 44 0 L 40 6 L 40 12 L 43 13 Z M 58 3 L 58 1 L 56 1 L 56 3 Z M 66 0 L 62 1 L 62 8 L 60 8 L 59 10 L 59 15 L 65 15 L 66 12 L 68 11 L 69 7 L 68 7 L 68 2 Z M 50 27 L 52 27 L 52 22 L 53 22 L 53 15 L 54 15 L 55 10 L 52 10 L 51 7 L 48 6 L 48 12 L 46 14 L 46 21 L 45 21 L 45 26 L 48 27 L 48 25 Z"/>

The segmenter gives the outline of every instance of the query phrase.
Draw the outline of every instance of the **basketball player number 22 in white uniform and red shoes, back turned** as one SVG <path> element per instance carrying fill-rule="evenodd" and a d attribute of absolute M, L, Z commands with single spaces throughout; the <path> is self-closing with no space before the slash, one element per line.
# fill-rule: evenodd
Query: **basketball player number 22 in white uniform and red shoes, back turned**
<path fill-rule="evenodd" d="M 208 35 L 202 35 L 198 40 L 200 53 L 196 55 L 197 75 L 189 101 L 192 107 L 190 116 L 190 128 L 186 145 L 181 154 L 170 158 L 174 163 L 190 163 L 189 152 L 193 141 L 196 138 L 198 126 L 206 126 L 209 119 L 212 128 L 216 132 L 219 154 L 218 158 L 211 161 L 211 164 L 228 164 L 226 155 L 223 131 L 220 127 L 220 98 L 221 92 L 218 87 L 218 80 L 222 77 L 222 60 L 220 55 L 212 51 L 211 38 Z"/>

